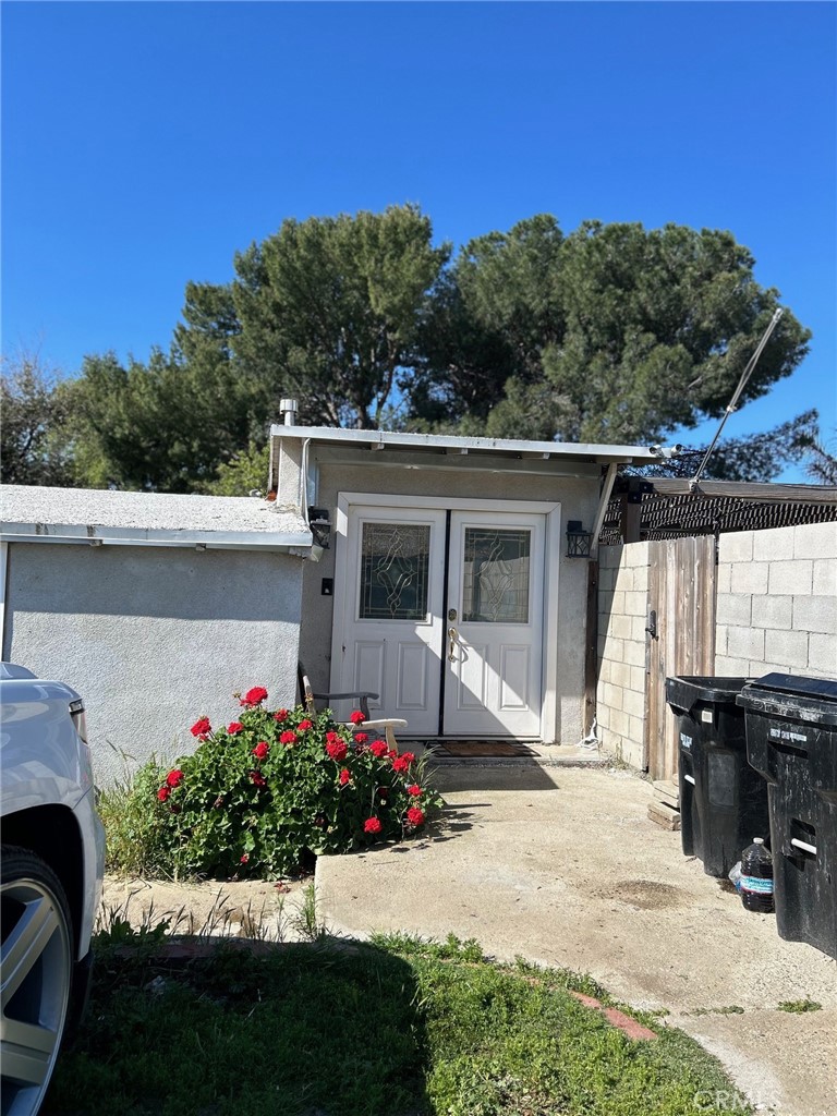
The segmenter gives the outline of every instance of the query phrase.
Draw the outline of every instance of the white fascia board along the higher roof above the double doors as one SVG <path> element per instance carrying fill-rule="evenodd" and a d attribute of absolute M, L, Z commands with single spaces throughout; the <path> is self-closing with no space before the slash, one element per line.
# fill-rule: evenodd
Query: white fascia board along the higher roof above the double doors
<path fill-rule="evenodd" d="M 446 434 L 397 434 L 383 430 L 344 430 L 336 426 L 270 427 L 270 437 L 311 439 L 314 442 L 348 443 L 376 449 L 474 450 L 483 453 L 525 453 L 555 458 L 594 458 L 610 461 L 656 461 L 646 445 L 598 445 L 575 442 L 527 442 L 504 437 L 455 437 Z"/>

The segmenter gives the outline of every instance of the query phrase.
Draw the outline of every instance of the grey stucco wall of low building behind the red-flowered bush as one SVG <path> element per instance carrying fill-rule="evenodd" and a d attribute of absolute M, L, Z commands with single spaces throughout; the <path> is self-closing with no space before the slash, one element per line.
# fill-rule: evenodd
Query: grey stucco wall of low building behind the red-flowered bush
<path fill-rule="evenodd" d="M 190 725 L 233 720 L 235 691 L 294 703 L 301 581 L 281 554 L 10 543 L 3 658 L 81 694 L 109 783 L 191 751 Z"/>

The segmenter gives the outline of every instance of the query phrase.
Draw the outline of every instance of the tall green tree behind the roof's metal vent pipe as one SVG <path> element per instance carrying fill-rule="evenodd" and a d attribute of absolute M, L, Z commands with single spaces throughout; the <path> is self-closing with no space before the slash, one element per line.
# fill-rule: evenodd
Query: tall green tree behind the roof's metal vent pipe
<path fill-rule="evenodd" d="M 228 360 L 267 419 L 290 395 L 307 423 L 376 427 L 448 257 L 414 205 L 289 219 L 235 256 L 229 286 L 190 285 L 176 344 Z"/>

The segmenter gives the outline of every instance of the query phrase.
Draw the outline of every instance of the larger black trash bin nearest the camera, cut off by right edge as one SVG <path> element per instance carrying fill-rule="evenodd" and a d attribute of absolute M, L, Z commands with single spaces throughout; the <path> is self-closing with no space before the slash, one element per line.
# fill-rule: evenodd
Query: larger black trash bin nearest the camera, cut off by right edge
<path fill-rule="evenodd" d="M 837 682 L 766 674 L 739 704 L 769 787 L 777 929 L 837 958 Z"/>

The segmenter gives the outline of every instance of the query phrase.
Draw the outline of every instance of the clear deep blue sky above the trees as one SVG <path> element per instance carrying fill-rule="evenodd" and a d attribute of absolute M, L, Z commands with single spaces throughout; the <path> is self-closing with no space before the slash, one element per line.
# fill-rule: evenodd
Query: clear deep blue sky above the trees
<path fill-rule="evenodd" d="M 6 0 L 3 349 L 145 359 L 186 281 L 286 217 L 412 201 L 455 246 L 538 212 L 674 221 L 730 229 L 815 334 L 727 433 L 816 405 L 831 437 L 836 12 Z"/>

